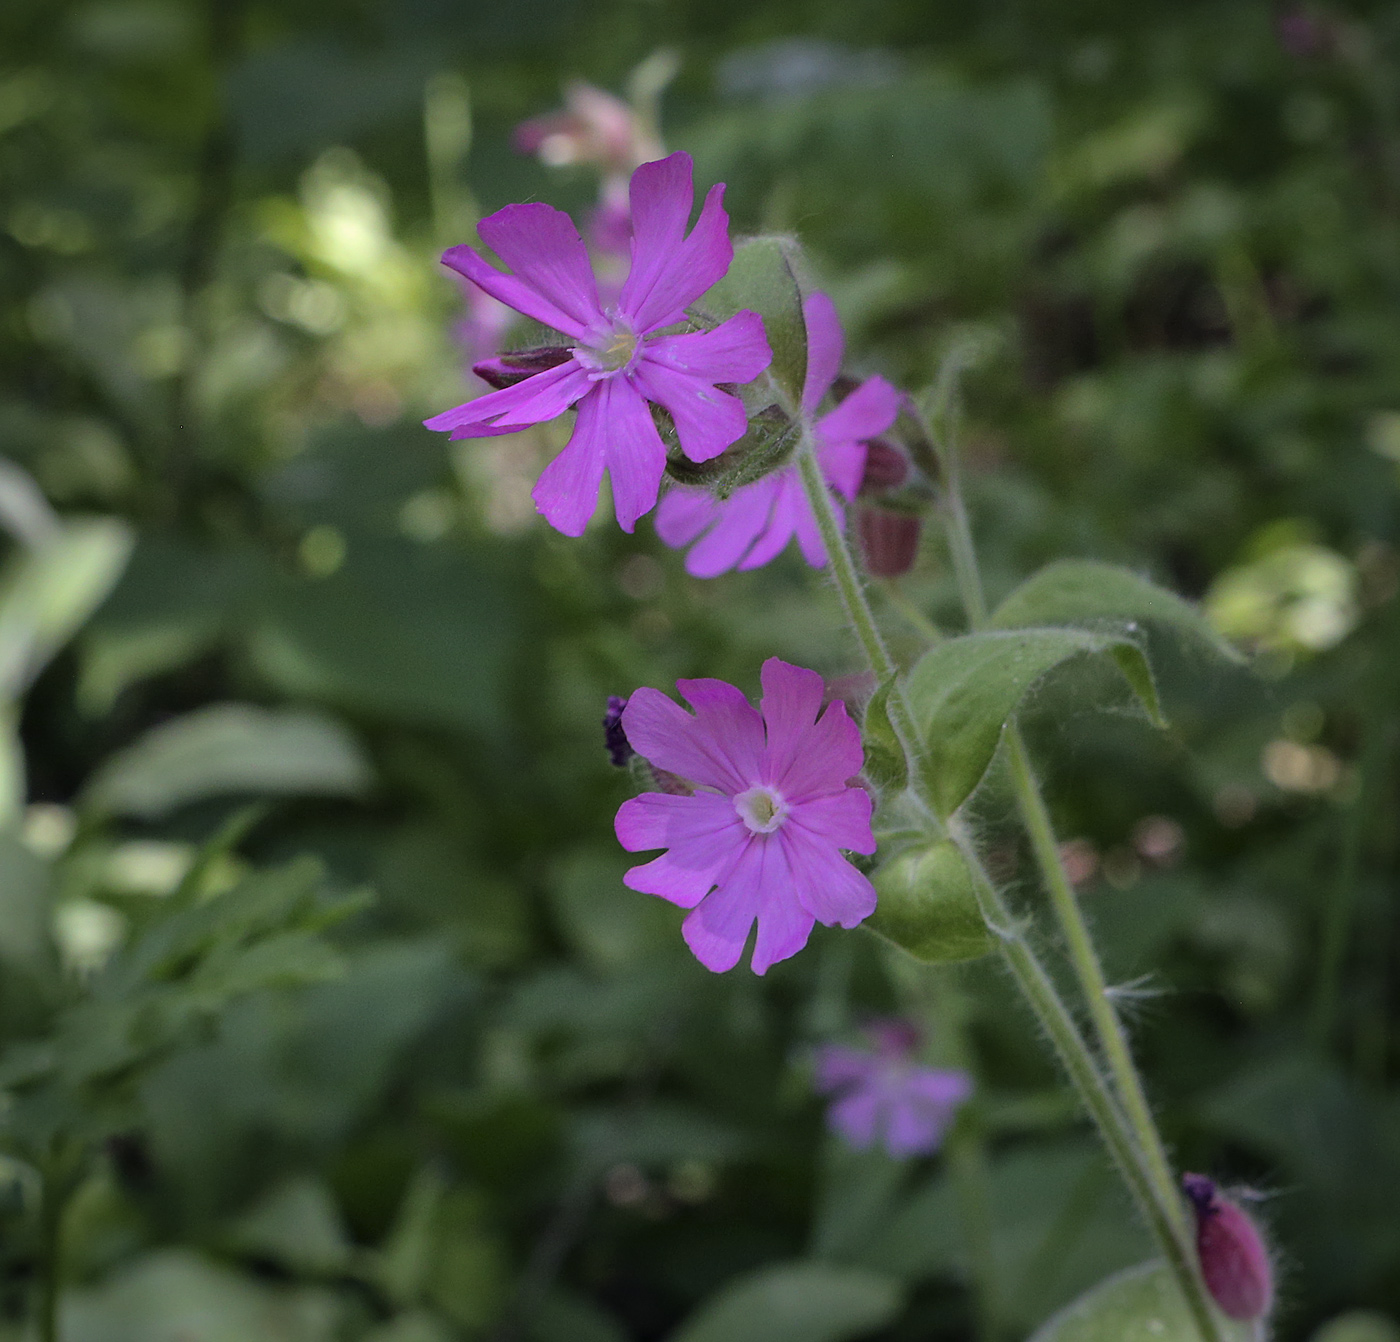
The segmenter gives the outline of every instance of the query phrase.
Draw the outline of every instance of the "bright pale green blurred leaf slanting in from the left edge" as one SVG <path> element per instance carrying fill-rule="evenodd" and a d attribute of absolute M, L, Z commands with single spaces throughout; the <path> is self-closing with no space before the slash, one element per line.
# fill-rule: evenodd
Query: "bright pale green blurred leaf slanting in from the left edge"
<path fill-rule="evenodd" d="M 0 578 L 0 695 L 13 698 L 102 603 L 134 544 L 115 518 L 66 522 Z"/>

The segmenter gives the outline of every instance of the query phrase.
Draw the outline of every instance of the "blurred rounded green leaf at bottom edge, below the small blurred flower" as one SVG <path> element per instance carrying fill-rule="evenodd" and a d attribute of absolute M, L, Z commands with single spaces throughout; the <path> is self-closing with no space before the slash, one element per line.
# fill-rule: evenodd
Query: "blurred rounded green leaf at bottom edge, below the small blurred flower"
<path fill-rule="evenodd" d="M 882 1272 L 778 1264 L 711 1296 L 669 1342 L 844 1342 L 883 1328 L 902 1307 L 899 1283 Z"/>

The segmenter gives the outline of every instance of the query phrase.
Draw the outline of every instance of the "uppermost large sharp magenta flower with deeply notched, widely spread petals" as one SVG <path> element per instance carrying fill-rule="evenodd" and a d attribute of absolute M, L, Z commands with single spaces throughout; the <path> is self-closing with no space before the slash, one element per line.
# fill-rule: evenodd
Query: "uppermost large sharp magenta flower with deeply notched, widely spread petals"
<path fill-rule="evenodd" d="M 680 451 L 693 462 L 707 462 L 748 427 L 743 403 L 717 383 L 750 382 L 773 357 L 753 312 L 739 312 L 714 330 L 659 334 L 685 320 L 686 308 L 724 276 L 734 257 L 721 204 L 724 186 L 710 189 L 686 235 L 690 178 L 687 154 L 643 164 L 631 175 L 631 269 L 616 305 L 606 309 L 582 239 L 568 216 L 552 206 L 507 206 L 477 225 L 514 274 L 489 266 L 468 246 L 442 256 L 493 298 L 574 341 L 536 351 L 531 376 L 524 379 L 519 360 L 487 360 L 480 365 L 487 381 L 514 385 L 426 421 L 454 438 L 486 438 L 553 420 L 577 406 L 568 445 L 533 490 L 535 507 L 566 536 L 582 535 L 605 470 L 624 532 L 655 505 L 666 449 L 648 402 L 675 421 Z"/>

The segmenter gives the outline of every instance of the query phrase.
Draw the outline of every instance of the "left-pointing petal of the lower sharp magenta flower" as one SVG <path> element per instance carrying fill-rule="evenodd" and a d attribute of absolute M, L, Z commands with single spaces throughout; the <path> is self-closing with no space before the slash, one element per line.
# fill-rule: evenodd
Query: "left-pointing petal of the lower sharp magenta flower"
<path fill-rule="evenodd" d="M 734 803 L 714 792 L 694 796 L 644 792 L 623 802 L 615 828 L 629 852 L 669 849 L 631 868 L 623 884 L 682 908 L 694 908 L 728 875 L 749 840 Z"/>

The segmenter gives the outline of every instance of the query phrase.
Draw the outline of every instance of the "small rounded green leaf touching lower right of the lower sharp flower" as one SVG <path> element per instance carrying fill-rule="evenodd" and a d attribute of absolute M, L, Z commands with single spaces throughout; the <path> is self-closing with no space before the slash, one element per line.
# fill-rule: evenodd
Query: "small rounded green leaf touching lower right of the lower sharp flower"
<path fill-rule="evenodd" d="M 967 863 L 948 840 L 899 854 L 872 879 L 879 904 L 867 926 L 916 959 L 939 964 L 993 950 Z"/>

